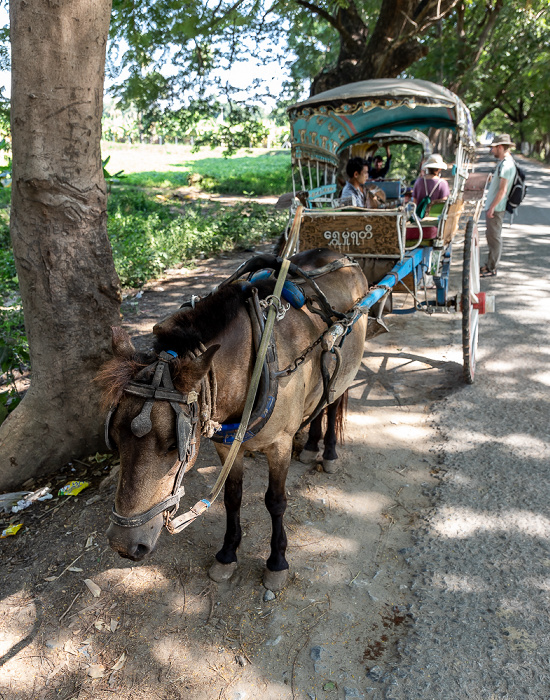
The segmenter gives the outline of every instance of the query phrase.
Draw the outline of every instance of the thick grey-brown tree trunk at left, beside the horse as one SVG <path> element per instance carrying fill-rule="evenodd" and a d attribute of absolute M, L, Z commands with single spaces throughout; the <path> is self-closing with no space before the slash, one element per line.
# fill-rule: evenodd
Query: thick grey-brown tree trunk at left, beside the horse
<path fill-rule="evenodd" d="M 104 449 L 93 377 L 120 290 L 100 153 L 110 0 L 12 0 L 11 236 L 32 381 L 0 428 L 0 491 Z"/>

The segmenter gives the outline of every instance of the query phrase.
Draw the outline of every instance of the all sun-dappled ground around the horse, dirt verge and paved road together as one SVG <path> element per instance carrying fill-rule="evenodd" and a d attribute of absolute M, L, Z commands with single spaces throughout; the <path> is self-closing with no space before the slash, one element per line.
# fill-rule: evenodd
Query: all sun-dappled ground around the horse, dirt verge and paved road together
<path fill-rule="evenodd" d="M 262 457 L 247 460 L 240 564 L 223 585 L 206 574 L 221 504 L 136 565 L 104 538 L 110 462 L 60 472 L 56 489 L 85 476 L 91 486 L 25 511 L 26 529 L 0 542 L 0 697 L 515 699 L 529 688 L 548 697 L 550 380 L 540 320 L 550 221 L 517 221 L 491 280 L 498 312 L 482 319 L 476 385 L 461 381 L 460 317 L 393 316 L 391 333 L 365 346 L 342 471 L 291 465 L 293 575 L 274 599 L 261 585 Z M 125 326 L 147 346 L 155 321 L 238 262 L 174 271 L 125 302 Z M 520 285 L 526 295 L 511 296 Z M 189 502 L 217 469 L 205 445 Z"/>

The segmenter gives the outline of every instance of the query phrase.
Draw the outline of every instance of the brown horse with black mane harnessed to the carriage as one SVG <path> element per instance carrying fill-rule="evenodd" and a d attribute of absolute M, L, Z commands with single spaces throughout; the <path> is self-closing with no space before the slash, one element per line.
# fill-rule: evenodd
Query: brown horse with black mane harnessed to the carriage
<path fill-rule="evenodd" d="M 295 255 L 292 262 L 311 274 L 312 279 L 298 278 L 298 289 L 308 302 L 290 306 L 275 323 L 267 384 L 259 391 L 268 395 L 271 405 L 256 418 L 253 414 L 250 434 L 225 483 L 226 533 L 209 572 L 213 580 L 222 581 L 236 568 L 246 446 L 264 453 L 269 463 L 265 504 L 272 519 L 272 537 L 263 582 L 270 590 L 280 590 L 288 577 L 283 515 L 293 437 L 304 419 L 314 417 L 320 408 L 327 390 L 323 374 L 325 380 L 328 376 L 331 410 L 336 413 L 335 406 L 359 368 L 367 325 L 367 317 L 356 314 L 345 340 L 340 336 L 336 342 L 341 344 L 340 350 L 334 353 L 325 345 L 322 363 L 323 344 L 315 341 L 327 331 L 327 324 L 341 320 L 367 293 L 367 281 L 355 263 L 333 251 L 306 251 Z M 231 424 L 238 424 L 243 413 L 258 342 L 246 301 L 256 294 L 254 290 L 259 291 L 259 298 L 268 296 L 273 286 L 269 279 L 232 282 L 192 308 L 182 308 L 153 329 L 153 355 L 137 353 L 129 336 L 113 329 L 114 358 L 100 380 L 112 413 L 107 421 L 107 440 L 120 452 L 120 477 L 107 537 L 121 556 L 137 561 L 153 551 L 167 512 L 174 505 L 177 508 L 183 491 L 180 483 L 196 459 L 201 432 L 213 439 L 222 434 L 216 449 L 222 462 L 227 457 Z M 328 305 L 312 303 L 323 295 Z M 327 313 L 332 321 L 326 318 Z M 261 325 L 263 320 L 259 322 Z M 214 433 L 220 426 L 223 429 Z M 330 433 L 325 437 L 324 457 L 334 464 L 335 435 L 333 430 Z M 308 459 L 316 456 L 320 438 L 319 415 L 310 432 L 305 452 Z"/>

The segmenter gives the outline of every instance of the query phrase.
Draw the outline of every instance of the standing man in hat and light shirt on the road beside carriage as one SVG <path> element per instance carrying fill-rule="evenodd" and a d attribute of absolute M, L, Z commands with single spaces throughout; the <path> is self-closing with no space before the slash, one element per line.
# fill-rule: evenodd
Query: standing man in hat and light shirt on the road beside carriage
<path fill-rule="evenodd" d="M 482 266 L 482 277 L 494 277 L 502 255 L 502 224 L 506 213 L 506 201 L 516 176 L 516 164 L 510 154 L 514 142 L 508 134 L 498 134 L 491 144 L 491 155 L 498 161 L 487 192 L 485 222 L 489 255 Z"/>

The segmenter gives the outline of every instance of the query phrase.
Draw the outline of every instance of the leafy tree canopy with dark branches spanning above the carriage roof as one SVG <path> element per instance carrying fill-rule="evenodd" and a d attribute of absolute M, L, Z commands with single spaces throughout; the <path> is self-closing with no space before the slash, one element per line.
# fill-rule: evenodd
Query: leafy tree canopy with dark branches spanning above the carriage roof
<path fill-rule="evenodd" d="M 174 106 L 192 123 L 221 98 L 252 130 L 250 93 L 223 69 L 254 57 L 256 98 L 272 71 L 287 75 L 282 118 L 308 86 L 420 77 L 461 95 L 476 125 L 537 140 L 549 132 L 549 13 L 546 0 L 114 0 L 108 69 L 145 126 Z"/>

